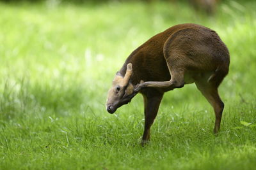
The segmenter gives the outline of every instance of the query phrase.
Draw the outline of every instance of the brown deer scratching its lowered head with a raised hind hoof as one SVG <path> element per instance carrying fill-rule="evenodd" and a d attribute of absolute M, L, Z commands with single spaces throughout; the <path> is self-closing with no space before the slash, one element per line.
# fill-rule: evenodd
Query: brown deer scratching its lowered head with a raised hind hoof
<path fill-rule="evenodd" d="M 230 56 L 220 36 L 197 24 L 179 24 L 166 29 L 134 50 L 116 73 L 108 90 L 106 110 L 143 96 L 145 125 L 141 145 L 150 139 L 150 127 L 165 92 L 195 83 L 215 113 L 214 134 L 220 131 L 224 103 L 218 87 L 228 74 Z"/>

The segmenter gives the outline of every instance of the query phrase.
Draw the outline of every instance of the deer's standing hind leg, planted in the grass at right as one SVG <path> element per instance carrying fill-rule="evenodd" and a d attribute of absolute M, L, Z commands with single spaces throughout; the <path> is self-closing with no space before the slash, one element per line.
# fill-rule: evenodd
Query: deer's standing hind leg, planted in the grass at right
<path fill-rule="evenodd" d="M 195 83 L 197 89 L 202 92 L 204 97 L 207 99 L 207 101 L 209 101 L 212 108 L 214 109 L 216 119 L 213 132 L 217 133 L 220 131 L 221 117 L 224 109 L 224 103 L 221 101 L 221 98 L 218 94 L 218 87 L 207 81 L 196 81 Z"/>

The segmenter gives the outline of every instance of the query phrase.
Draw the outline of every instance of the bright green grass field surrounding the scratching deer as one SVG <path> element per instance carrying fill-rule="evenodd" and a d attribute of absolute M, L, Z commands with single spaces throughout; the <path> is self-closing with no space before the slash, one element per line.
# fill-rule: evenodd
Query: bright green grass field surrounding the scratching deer
<path fill-rule="evenodd" d="M 0 3 L 0 169 L 255 169 L 255 8 L 230 1 L 209 18 L 181 3 Z M 132 50 L 186 22 L 230 50 L 221 132 L 186 85 L 165 94 L 143 148 L 141 95 L 110 115 L 108 88 Z"/>

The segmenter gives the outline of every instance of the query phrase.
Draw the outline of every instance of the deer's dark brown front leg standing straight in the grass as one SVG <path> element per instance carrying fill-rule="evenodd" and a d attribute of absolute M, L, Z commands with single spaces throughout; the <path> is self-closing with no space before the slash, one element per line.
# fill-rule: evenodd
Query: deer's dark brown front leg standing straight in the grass
<path fill-rule="evenodd" d="M 145 115 L 145 129 L 143 132 L 141 145 L 145 145 L 150 139 L 150 127 L 154 123 L 156 118 L 161 99 L 163 94 L 156 90 L 150 90 L 147 94 L 143 94 L 144 97 L 144 115 Z"/>

